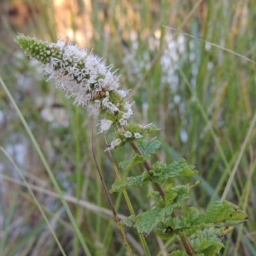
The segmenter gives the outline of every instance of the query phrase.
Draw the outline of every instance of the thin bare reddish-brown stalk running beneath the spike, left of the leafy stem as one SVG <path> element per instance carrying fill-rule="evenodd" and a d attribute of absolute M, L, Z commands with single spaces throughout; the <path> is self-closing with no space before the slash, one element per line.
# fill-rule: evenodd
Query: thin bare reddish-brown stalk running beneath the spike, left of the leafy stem
<path fill-rule="evenodd" d="M 93 122 L 93 123 L 94 123 L 94 122 Z M 93 127 L 94 127 L 94 124 L 93 124 Z M 127 238 L 126 238 L 126 236 L 125 236 L 124 228 L 122 227 L 122 225 L 121 225 L 120 222 L 119 222 L 119 219 L 118 219 L 118 216 L 117 216 L 117 214 L 116 214 L 116 211 L 115 211 L 113 202 L 112 202 L 112 200 L 111 200 L 111 198 L 110 198 L 110 195 L 109 195 L 109 193 L 108 193 L 107 186 L 106 186 L 106 184 L 105 184 L 105 182 L 104 182 L 104 180 L 103 180 L 103 177 L 102 177 L 102 175 L 101 175 L 101 173 L 100 173 L 100 168 L 99 168 L 99 165 L 98 165 L 98 163 L 97 163 L 97 161 L 96 161 L 95 150 L 94 150 L 93 145 L 94 145 L 94 143 L 93 143 L 93 129 L 92 129 L 92 154 L 93 154 L 94 162 L 95 162 L 95 164 L 96 164 L 97 171 L 98 171 L 99 176 L 100 176 L 100 181 L 101 181 L 101 183 L 102 183 L 102 187 L 103 187 L 104 193 L 105 193 L 105 195 L 106 195 L 106 197 L 107 197 L 109 206 L 110 206 L 110 208 L 111 208 L 111 210 L 112 210 L 112 212 L 113 212 L 113 215 L 114 215 L 114 218 L 115 218 L 117 227 L 118 227 L 118 229 L 119 229 L 119 231 L 120 231 L 120 233 L 121 233 L 122 239 L 124 240 L 124 243 L 125 243 L 127 252 L 129 252 L 129 255 L 130 255 L 130 256 L 134 256 L 134 254 L 133 254 L 133 252 L 132 252 L 132 249 L 131 249 L 131 246 L 130 246 L 130 244 L 128 243 Z"/>

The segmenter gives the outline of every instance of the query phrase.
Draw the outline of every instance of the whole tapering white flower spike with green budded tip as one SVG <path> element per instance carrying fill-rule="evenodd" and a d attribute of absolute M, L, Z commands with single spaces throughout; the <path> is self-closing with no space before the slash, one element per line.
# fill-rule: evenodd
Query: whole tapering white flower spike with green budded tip
<path fill-rule="evenodd" d="M 85 48 L 60 39 L 54 44 L 19 35 L 16 42 L 30 58 L 42 63 L 44 74 L 68 97 L 74 97 L 74 103 L 86 108 L 93 118 L 104 113 L 106 118 L 97 124 L 99 133 L 106 133 L 111 125 L 118 128 L 119 133 L 114 133 L 115 138 L 107 150 L 118 147 L 129 138 L 138 140 L 143 137 L 139 125 L 136 128 L 134 124 L 135 130 L 129 130 L 133 102 L 123 100 L 129 90 L 118 90 L 119 77 L 116 71 L 111 72 L 112 65 L 106 66 L 106 61 L 93 52 L 88 53 Z M 138 132 L 130 132 L 136 129 Z"/>

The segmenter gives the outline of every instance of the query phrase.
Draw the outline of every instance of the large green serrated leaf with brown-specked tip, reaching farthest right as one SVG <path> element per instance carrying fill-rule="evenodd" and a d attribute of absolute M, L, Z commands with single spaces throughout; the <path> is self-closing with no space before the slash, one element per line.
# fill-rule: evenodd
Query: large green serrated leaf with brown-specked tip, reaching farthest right
<path fill-rule="evenodd" d="M 237 205 L 227 201 L 215 201 L 195 223 L 214 223 L 214 225 L 220 227 L 236 225 L 246 220 L 248 220 L 247 214 L 241 211 Z"/>

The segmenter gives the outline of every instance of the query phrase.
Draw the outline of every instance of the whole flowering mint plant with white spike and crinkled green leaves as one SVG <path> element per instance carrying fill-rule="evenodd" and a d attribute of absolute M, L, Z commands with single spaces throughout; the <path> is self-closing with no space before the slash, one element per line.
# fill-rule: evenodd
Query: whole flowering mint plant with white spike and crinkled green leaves
<path fill-rule="evenodd" d="M 56 87 L 74 97 L 74 102 L 86 108 L 88 115 L 104 116 L 97 124 L 99 133 L 106 133 L 111 127 L 114 130 L 113 140 L 106 151 L 121 148 L 125 143 L 131 145 L 134 157 L 122 161 L 120 168 L 129 170 L 138 163 L 145 167 L 145 171 L 140 175 L 127 177 L 125 180 L 116 179 L 109 193 L 102 180 L 129 254 L 133 255 L 120 224 L 136 228 L 138 233 L 145 237 L 150 232 L 154 232 L 161 239 L 177 237 L 185 251 L 175 251 L 168 255 L 210 256 L 219 253 L 223 248 L 222 239 L 225 234 L 234 225 L 246 221 L 248 216 L 227 201 L 213 202 L 205 212 L 186 206 L 184 201 L 189 199 L 189 190 L 200 182 L 175 186 L 174 179 L 197 176 L 196 166 L 186 163 L 185 159 L 168 164 L 160 161 L 150 164 L 150 157 L 156 153 L 161 143 L 157 138 L 150 140 L 147 134 L 159 129 L 154 124 L 141 125 L 131 122 L 133 103 L 124 100 L 129 93 L 127 90 L 118 89 L 119 77 L 111 71 L 113 66 L 107 67 L 105 61 L 93 52 L 88 54 L 86 49 L 79 48 L 72 42 L 58 40 L 54 44 L 24 35 L 17 36 L 15 41 L 28 56 L 42 63 L 45 74 L 55 82 Z M 119 221 L 109 194 L 119 193 L 131 187 L 147 186 L 149 182 L 152 182 L 155 188 L 154 191 L 148 191 L 148 196 L 155 198 L 152 208 Z M 144 240 L 141 241 L 143 243 Z M 150 255 L 150 252 L 147 252 L 147 255 Z"/>

